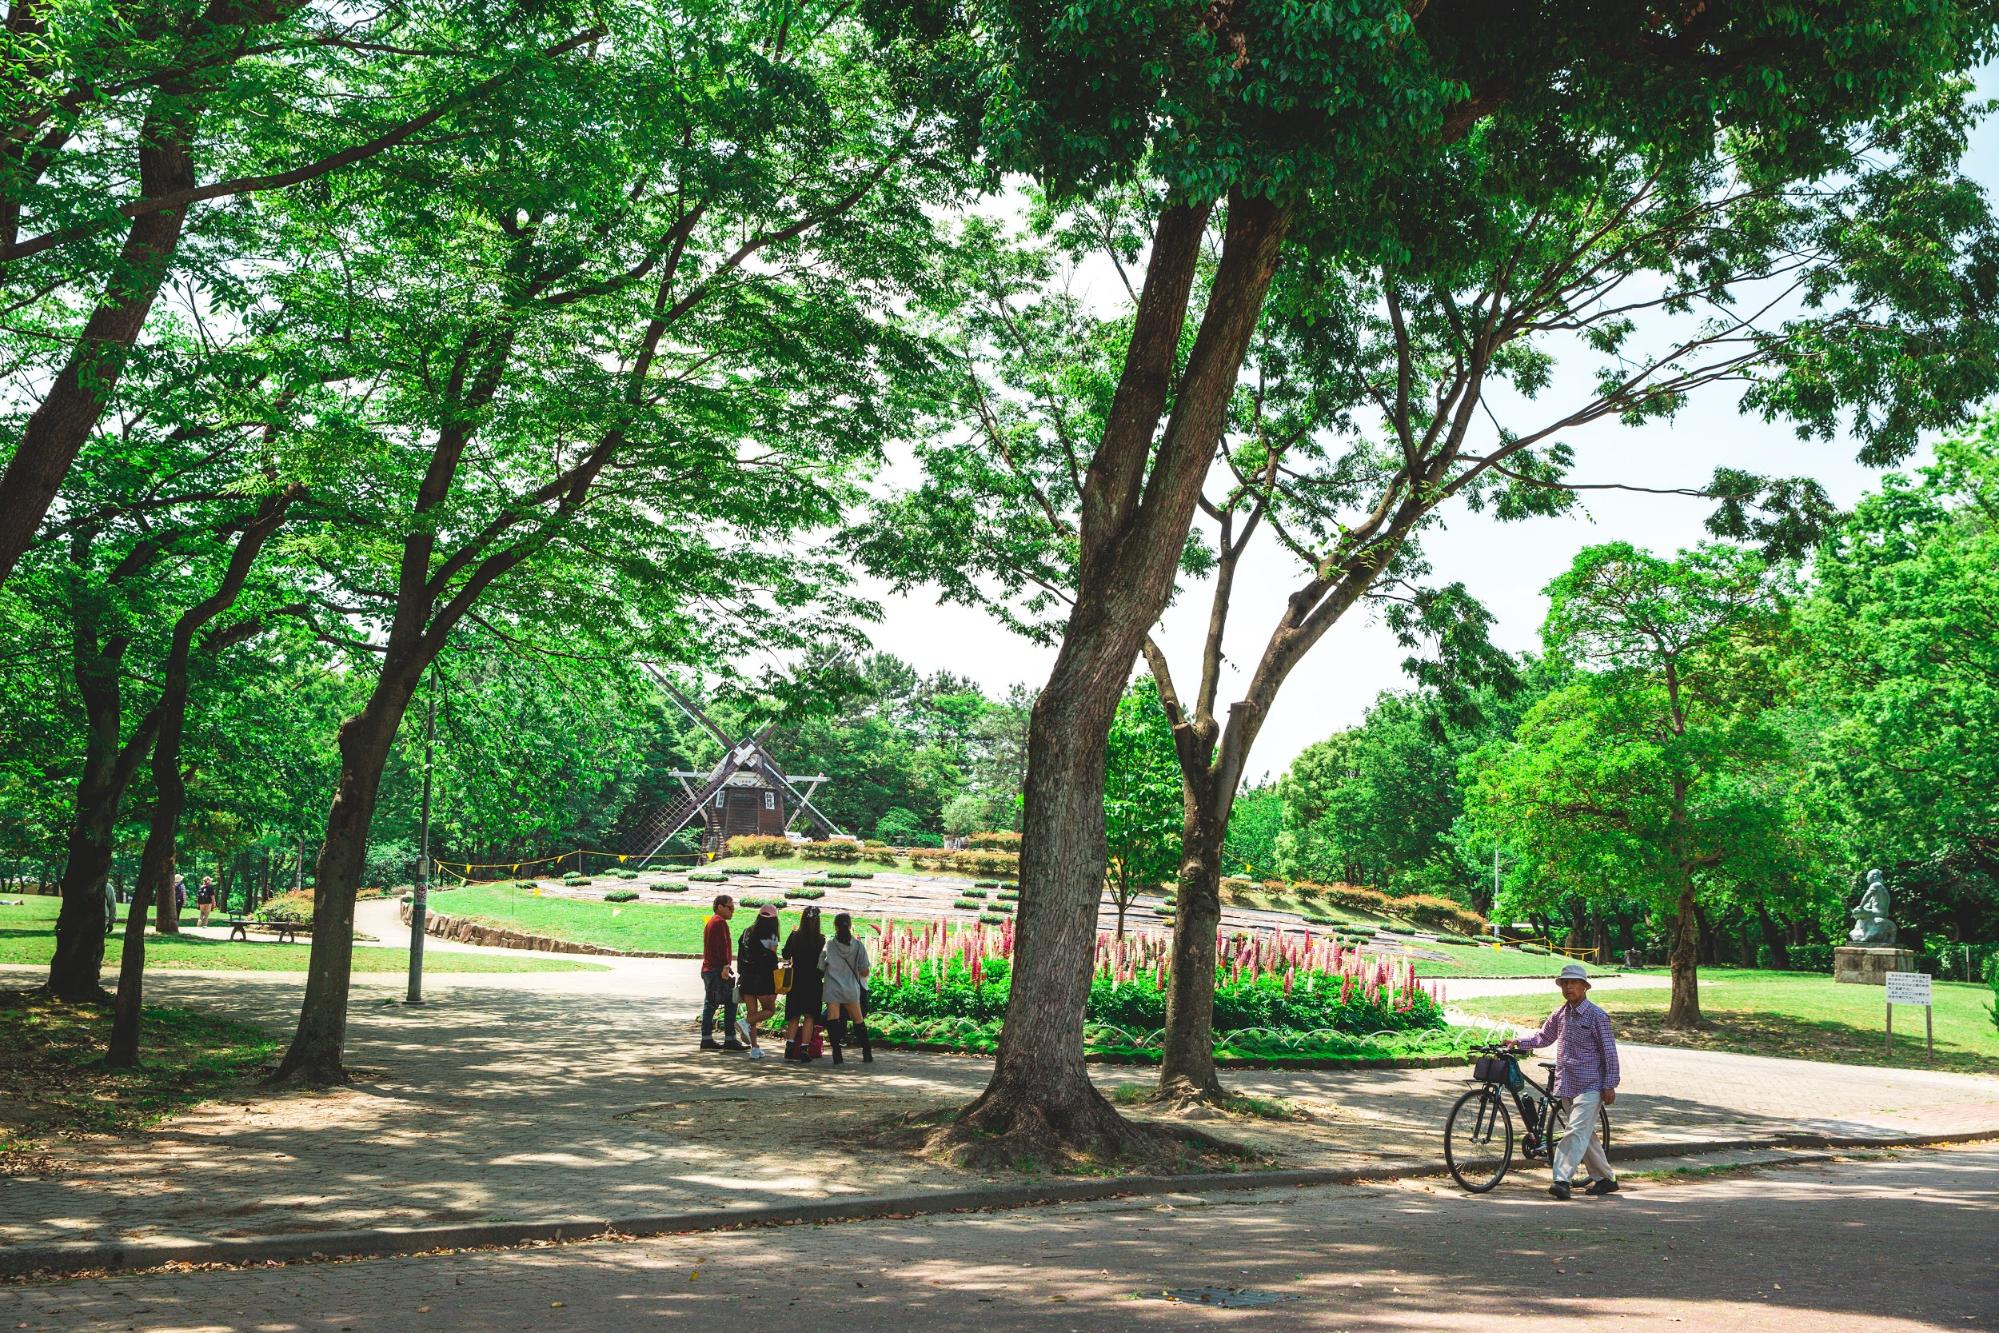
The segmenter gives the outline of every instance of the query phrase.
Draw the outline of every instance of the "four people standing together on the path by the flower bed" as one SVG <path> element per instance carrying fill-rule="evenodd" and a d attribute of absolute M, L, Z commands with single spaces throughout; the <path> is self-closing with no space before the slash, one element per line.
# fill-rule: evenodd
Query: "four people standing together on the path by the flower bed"
<path fill-rule="evenodd" d="M 714 915 L 702 927 L 702 1049 L 750 1051 L 766 1059 L 764 1023 L 784 995 L 784 1057 L 818 1059 L 820 1035 L 832 1045 L 834 1063 L 846 1047 L 860 1045 L 874 1063 L 868 1037 L 868 945 L 854 935 L 854 917 L 834 917 L 834 933 L 820 929 L 820 909 L 806 907 L 784 945 L 778 943 L 778 909 L 758 907 L 738 939 L 730 939 L 736 899 L 716 895 Z M 734 947 L 732 947 L 734 945 Z M 744 1015 L 736 1015 L 738 995 Z M 724 1041 L 716 1041 L 716 1011 L 724 1015 Z"/>

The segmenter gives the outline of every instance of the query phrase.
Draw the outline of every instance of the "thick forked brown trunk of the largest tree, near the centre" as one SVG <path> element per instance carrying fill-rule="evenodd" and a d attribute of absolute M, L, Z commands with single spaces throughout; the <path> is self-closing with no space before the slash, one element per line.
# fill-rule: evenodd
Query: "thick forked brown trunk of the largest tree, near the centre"
<path fill-rule="evenodd" d="M 1105 867 L 1105 745 L 1139 646 L 1171 594 L 1289 222 L 1267 200 L 1231 198 L 1201 330 L 1153 448 L 1205 218 L 1205 206 L 1159 214 L 1125 366 L 1083 484 L 1075 604 L 1027 733 L 1021 909 L 1000 1059 L 946 1135 L 976 1157 L 1141 1145 L 1089 1083 L 1081 1049 Z"/>

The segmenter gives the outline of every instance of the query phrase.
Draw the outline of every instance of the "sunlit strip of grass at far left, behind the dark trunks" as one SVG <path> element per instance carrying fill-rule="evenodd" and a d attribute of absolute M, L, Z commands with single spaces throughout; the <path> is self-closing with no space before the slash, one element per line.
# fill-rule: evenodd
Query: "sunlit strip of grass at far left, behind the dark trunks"
<path fill-rule="evenodd" d="M 22 907 L 0 907 L 0 963 L 30 963 L 46 967 L 56 951 L 56 911 L 60 897 L 28 897 Z M 214 917 L 210 917 L 214 919 Z M 186 917 L 192 925 L 194 917 Z M 118 971 L 118 949 L 124 945 L 124 927 L 104 941 L 104 967 Z M 306 957 L 312 945 L 278 943 L 276 939 L 256 939 L 248 943 L 226 939 L 198 939 L 182 935 L 166 939 L 146 937 L 146 967 L 194 967 L 202 971 L 306 971 Z M 384 949 L 380 945 L 354 945 L 354 971 L 410 971 L 408 949 Z M 548 953 L 492 955 L 492 953 L 452 953 L 448 949 L 426 949 L 424 971 L 608 971 L 604 963 L 586 963 Z"/>

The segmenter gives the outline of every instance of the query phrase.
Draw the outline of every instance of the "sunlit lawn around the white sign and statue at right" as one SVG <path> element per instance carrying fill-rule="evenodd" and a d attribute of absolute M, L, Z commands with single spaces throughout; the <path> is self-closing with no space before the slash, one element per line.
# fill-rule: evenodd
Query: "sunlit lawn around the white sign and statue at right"
<path fill-rule="evenodd" d="M 1825 975 L 1795 971 L 1701 971 L 1701 1013 L 1711 1027 L 1699 1033 L 1663 1029 L 1669 991 L 1603 991 L 1597 1001 L 1609 1009 L 1617 1035 L 1625 1041 L 1687 1045 L 1709 1051 L 1785 1055 L 1855 1065 L 1897 1065 L 1905 1069 L 1957 1069 L 1999 1075 L 1999 1029 L 1987 1013 L 1991 987 L 1965 981 L 1937 981 L 1937 1057 L 1923 1055 L 1923 1011 L 1895 1007 L 1895 1051 L 1883 1049 L 1881 1019 L 1885 997 L 1879 985 L 1841 985 Z M 1537 1023 L 1553 1009 L 1545 995 L 1503 995 L 1451 1001 L 1467 1013 Z"/>

